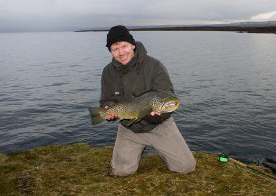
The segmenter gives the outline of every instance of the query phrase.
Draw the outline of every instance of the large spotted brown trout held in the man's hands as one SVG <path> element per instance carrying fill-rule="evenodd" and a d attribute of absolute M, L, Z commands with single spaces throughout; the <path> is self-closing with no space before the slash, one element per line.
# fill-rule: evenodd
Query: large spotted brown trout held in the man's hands
<path fill-rule="evenodd" d="M 143 119 L 150 112 L 173 112 L 179 108 L 179 99 L 164 90 L 142 92 L 131 99 L 112 104 L 108 109 L 88 108 L 91 124 L 95 126 L 105 121 L 111 113 L 118 115 L 118 119 L 129 119 L 127 126 Z"/>

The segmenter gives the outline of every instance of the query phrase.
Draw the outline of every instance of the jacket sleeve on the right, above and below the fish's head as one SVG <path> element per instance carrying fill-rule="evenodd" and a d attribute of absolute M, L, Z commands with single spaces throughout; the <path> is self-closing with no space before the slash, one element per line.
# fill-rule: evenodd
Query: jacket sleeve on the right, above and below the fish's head
<path fill-rule="evenodd" d="M 175 94 L 172 82 L 170 81 L 170 77 L 168 75 L 168 71 L 160 61 L 158 61 L 158 63 L 156 63 L 154 67 L 154 72 L 152 75 L 152 90 L 164 90 L 171 93 L 172 95 Z M 162 113 L 161 116 L 155 115 L 153 117 L 151 115 L 147 115 L 146 117 L 144 117 L 144 119 L 149 123 L 158 124 L 161 121 L 168 119 L 171 113 L 172 112 Z"/>

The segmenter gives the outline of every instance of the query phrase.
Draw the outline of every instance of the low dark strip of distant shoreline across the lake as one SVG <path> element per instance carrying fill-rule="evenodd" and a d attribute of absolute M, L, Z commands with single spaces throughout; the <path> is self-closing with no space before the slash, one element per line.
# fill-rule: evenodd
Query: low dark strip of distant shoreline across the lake
<path fill-rule="evenodd" d="M 195 27 L 159 27 L 159 28 L 130 28 L 130 31 L 233 31 L 240 33 L 274 33 L 276 34 L 276 26 L 268 27 L 210 27 L 210 26 L 195 26 Z M 106 30 L 76 30 L 75 32 L 103 32 Z"/>

